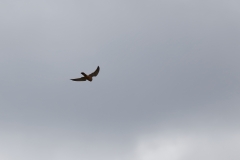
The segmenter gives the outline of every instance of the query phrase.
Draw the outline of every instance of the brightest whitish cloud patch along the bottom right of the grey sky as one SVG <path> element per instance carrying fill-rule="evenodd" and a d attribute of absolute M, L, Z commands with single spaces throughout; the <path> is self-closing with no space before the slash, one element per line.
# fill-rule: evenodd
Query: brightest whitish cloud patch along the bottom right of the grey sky
<path fill-rule="evenodd" d="M 139 138 L 135 159 L 140 160 L 225 160 L 239 159 L 240 132 L 227 133 L 170 133 Z"/>

